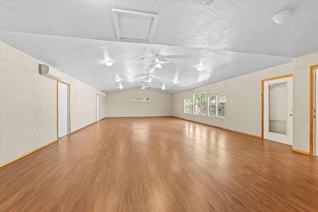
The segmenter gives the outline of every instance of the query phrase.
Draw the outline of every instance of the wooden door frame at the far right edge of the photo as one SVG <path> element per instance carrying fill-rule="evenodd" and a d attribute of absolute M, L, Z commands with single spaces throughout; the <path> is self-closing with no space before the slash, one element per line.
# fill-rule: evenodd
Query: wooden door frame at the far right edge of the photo
<path fill-rule="evenodd" d="M 314 155 L 314 109 L 315 109 L 315 74 L 314 70 L 318 68 L 318 65 L 310 67 L 310 124 L 309 124 L 309 154 Z M 317 83 L 317 82 L 316 82 Z"/>

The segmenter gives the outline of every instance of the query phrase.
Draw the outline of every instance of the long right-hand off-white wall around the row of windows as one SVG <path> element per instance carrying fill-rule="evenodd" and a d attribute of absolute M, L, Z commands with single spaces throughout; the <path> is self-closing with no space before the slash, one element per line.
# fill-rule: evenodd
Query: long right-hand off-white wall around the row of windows
<path fill-rule="evenodd" d="M 259 98 L 262 92 L 261 80 L 291 73 L 293 73 L 293 63 L 288 63 L 174 94 L 173 115 L 261 136 L 261 99 Z M 227 85 L 224 85 L 224 82 L 227 82 Z M 204 91 L 207 92 L 207 96 L 226 94 L 226 118 L 184 114 L 184 99 L 193 98 L 194 93 Z"/>

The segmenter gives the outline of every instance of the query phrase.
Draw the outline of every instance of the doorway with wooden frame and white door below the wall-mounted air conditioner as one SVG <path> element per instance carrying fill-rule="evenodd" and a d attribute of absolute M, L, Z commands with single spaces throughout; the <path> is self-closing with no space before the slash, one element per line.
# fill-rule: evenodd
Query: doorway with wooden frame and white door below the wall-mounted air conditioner
<path fill-rule="evenodd" d="M 58 81 L 58 138 L 70 135 L 70 84 Z"/>

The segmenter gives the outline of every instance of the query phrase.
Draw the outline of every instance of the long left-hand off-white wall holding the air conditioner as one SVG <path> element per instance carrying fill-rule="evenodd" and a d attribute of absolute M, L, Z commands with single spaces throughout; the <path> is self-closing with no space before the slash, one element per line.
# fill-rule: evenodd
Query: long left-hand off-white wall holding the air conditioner
<path fill-rule="evenodd" d="M 0 42 L 0 164 L 57 139 L 57 81 L 39 74 L 40 63 Z M 61 80 L 71 84 L 71 132 L 95 122 L 101 92 L 65 73 Z"/>

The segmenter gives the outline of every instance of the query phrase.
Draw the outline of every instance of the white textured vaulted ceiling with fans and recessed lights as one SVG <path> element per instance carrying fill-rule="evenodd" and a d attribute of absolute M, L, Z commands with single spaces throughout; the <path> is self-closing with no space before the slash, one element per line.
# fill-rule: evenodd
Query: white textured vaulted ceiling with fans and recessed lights
<path fill-rule="evenodd" d="M 205 3 L 1 0 L 0 40 L 106 92 L 119 90 L 115 77 L 121 78 L 124 89 L 140 86 L 150 68 L 161 76 L 150 83 L 151 89 L 165 85 L 165 92 L 177 93 L 318 50 L 317 0 L 215 0 L 210 7 Z M 117 42 L 112 8 L 159 14 L 151 44 Z M 291 20 L 276 24 L 272 16 L 284 9 L 294 10 Z M 174 63 L 153 69 L 147 63 L 156 54 Z M 104 65 L 109 60 L 112 67 Z M 197 66 L 204 70 L 197 71 Z"/>

